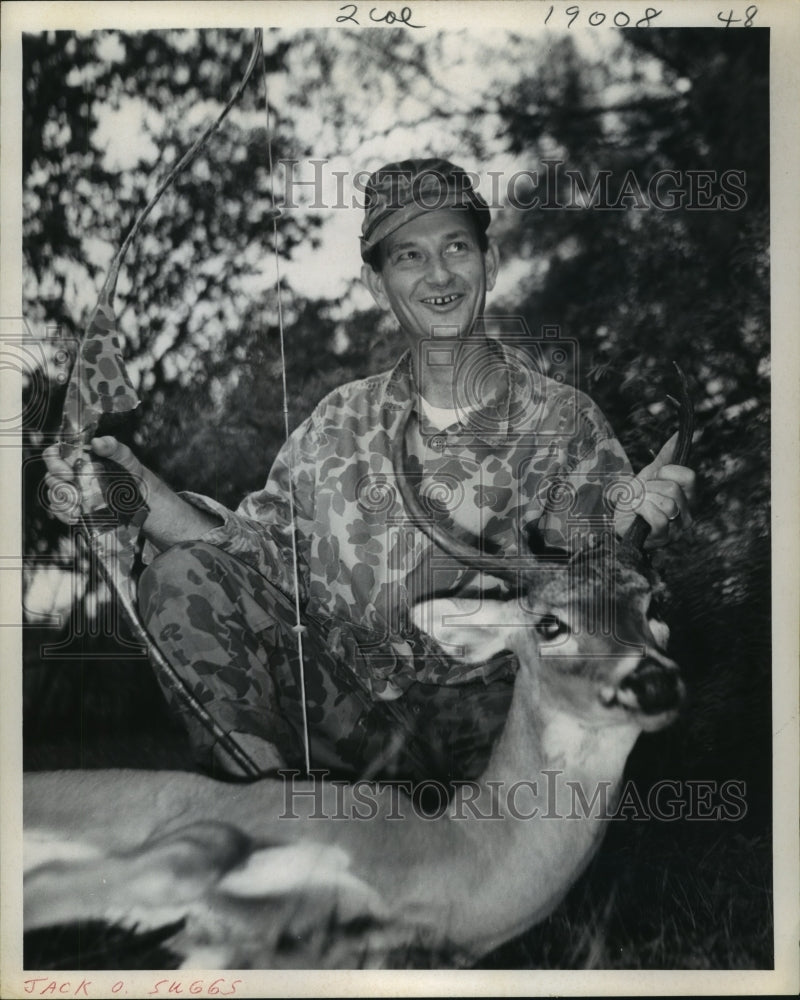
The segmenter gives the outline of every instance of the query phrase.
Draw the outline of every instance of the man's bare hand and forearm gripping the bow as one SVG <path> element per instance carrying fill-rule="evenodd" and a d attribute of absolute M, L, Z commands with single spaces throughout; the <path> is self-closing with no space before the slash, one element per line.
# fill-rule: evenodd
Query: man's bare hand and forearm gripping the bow
<path fill-rule="evenodd" d="M 81 487 L 85 488 L 89 482 L 92 470 L 73 468 L 59 456 L 58 450 L 58 445 L 51 445 L 42 456 L 47 466 L 45 485 L 50 495 L 50 511 L 65 524 L 77 524 L 84 499 Z M 182 500 L 116 438 L 93 438 L 91 450 L 99 458 L 121 466 L 135 480 L 150 508 L 142 530 L 156 545 L 166 548 L 178 542 L 194 541 L 220 524 L 220 519 L 213 514 Z"/>

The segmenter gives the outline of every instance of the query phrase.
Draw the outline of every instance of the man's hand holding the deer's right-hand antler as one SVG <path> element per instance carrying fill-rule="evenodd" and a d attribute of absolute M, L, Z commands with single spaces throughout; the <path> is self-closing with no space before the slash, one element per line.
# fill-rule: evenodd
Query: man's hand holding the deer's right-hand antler
<path fill-rule="evenodd" d="M 676 538 L 692 523 L 690 507 L 694 503 L 695 474 L 685 465 L 671 465 L 677 433 L 667 441 L 653 461 L 636 476 L 642 499 L 635 513 L 617 511 L 614 527 L 624 535 L 640 514 L 650 525 L 645 548 L 655 549 Z"/>

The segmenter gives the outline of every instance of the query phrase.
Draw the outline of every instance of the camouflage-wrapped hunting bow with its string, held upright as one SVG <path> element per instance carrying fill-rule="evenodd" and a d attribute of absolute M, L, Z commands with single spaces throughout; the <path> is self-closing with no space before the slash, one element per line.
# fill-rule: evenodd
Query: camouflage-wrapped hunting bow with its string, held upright
<path fill-rule="evenodd" d="M 146 629 L 139 620 L 136 603 L 132 594 L 127 588 L 121 585 L 121 577 L 123 575 L 128 575 L 126 571 L 130 569 L 130 565 L 123 569 L 122 564 L 118 561 L 118 553 L 112 553 L 108 549 L 104 552 L 100 547 L 101 537 L 110 530 L 117 528 L 120 521 L 124 524 L 124 515 L 126 513 L 135 513 L 137 507 L 140 505 L 141 497 L 137 496 L 138 489 L 136 484 L 131 485 L 129 481 L 125 482 L 124 480 L 121 483 L 117 482 L 116 484 L 112 484 L 104 495 L 103 490 L 97 481 L 97 469 L 91 465 L 90 460 L 86 459 L 85 452 L 88 442 L 92 437 L 94 437 L 97 431 L 103 414 L 126 412 L 135 409 L 139 405 L 139 399 L 136 396 L 133 386 L 131 385 L 122 361 L 121 335 L 117 328 L 117 321 L 113 309 L 113 299 L 117 285 L 117 278 L 119 277 L 119 271 L 125 259 L 125 255 L 138 235 L 143 223 L 161 196 L 171 186 L 178 174 L 180 174 L 195 159 L 203 146 L 205 146 L 208 139 L 219 128 L 224 119 L 227 117 L 228 112 L 242 95 L 258 63 L 259 57 L 261 57 L 262 73 L 264 78 L 264 97 L 266 101 L 267 75 L 266 62 L 264 60 L 263 32 L 261 29 L 257 29 L 255 44 L 250 56 L 250 61 L 248 62 L 247 69 L 245 70 L 240 83 L 236 87 L 236 90 L 233 92 L 217 118 L 211 125 L 208 126 L 208 128 L 206 128 L 200 137 L 168 172 L 167 176 L 158 186 L 156 192 L 136 218 L 128 235 L 123 241 L 122 246 L 112 260 L 108 276 L 103 283 L 97 305 L 91 314 L 89 325 L 81 341 L 78 354 L 75 359 L 75 364 L 67 386 L 67 394 L 62 411 L 58 441 L 61 457 L 72 464 L 76 474 L 80 476 L 82 482 L 80 497 L 81 513 L 79 516 L 79 526 L 81 529 L 80 537 L 83 537 L 84 542 L 88 546 L 90 560 L 98 567 L 101 574 L 105 578 L 112 595 L 116 596 L 118 605 L 122 608 L 125 617 L 128 619 L 135 638 L 144 645 L 145 649 L 148 651 L 151 662 L 153 662 L 153 664 L 162 672 L 162 675 L 167 681 L 169 687 L 186 705 L 197 721 L 200 722 L 200 724 L 214 737 L 219 746 L 230 755 L 234 762 L 242 769 L 244 774 L 250 778 L 257 778 L 261 775 L 261 771 L 257 765 L 238 744 L 236 739 L 230 733 L 222 729 L 211 713 L 199 701 L 179 674 L 172 668 L 158 647 L 152 642 Z M 272 186 L 272 201 L 274 205 L 274 180 L 272 174 L 272 146 L 268 103 L 266 113 L 268 165 L 270 183 Z M 285 433 L 288 440 L 289 424 L 283 316 L 281 311 L 277 229 L 278 215 L 280 215 L 279 211 L 273 211 L 272 221 L 277 272 L 276 288 L 281 345 L 281 366 L 283 372 L 283 410 Z M 90 465 L 88 475 L 85 472 L 87 464 Z M 289 509 L 291 519 L 292 552 L 294 558 L 296 612 L 295 632 L 297 634 L 298 653 L 300 657 L 306 770 L 309 770 L 309 738 L 306 719 L 299 573 L 295 540 L 294 498 L 291 488 L 291 466 L 289 471 Z M 120 515 L 122 515 L 122 517 L 120 517 Z M 136 523 L 135 520 L 134 523 Z M 128 539 L 128 542 L 130 543 L 131 540 Z M 129 548 L 132 548 L 132 545 L 129 544 Z M 115 559 L 117 560 L 116 562 Z"/>

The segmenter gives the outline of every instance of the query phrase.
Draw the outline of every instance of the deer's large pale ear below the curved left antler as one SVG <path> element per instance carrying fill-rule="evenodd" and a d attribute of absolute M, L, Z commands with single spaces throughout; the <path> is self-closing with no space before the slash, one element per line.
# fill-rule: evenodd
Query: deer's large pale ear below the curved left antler
<path fill-rule="evenodd" d="M 468 663 L 482 663 L 511 649 L 509 639 L 521 631 L 512 627 L 515 608 L 514 602 L 485 597 L 435 597 L 415 605 L 411 616 L 417 628 L 432 636 L 446 653 Z M 522 616 L 516 611 L 520 625 Z"/>

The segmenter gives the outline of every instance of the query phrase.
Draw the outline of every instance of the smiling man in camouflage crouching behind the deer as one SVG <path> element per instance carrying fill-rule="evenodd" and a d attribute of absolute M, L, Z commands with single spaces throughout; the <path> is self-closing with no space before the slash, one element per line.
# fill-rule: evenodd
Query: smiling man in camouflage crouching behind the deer
<path fill-rule="evenodd" d="M 92 442 L 143 484 L 142 531 L 160 553 L 139 587 L 153 640 L 264 773 L 302 762 L 307 728 L 315 768 L 468 778 L 499 734 L 513 659 L 466 664 L 411 624 L 417 600 L 457 592 L 470 573 L 410 522 L 398 475 L 434 494 L 450 533 L 505 552 L 525 551 L 534 529 L 564 544 L 570 524 L 613 519 L 621 533 L 631 520 L 609 504 L 631 472 L 602 414 L 486 334 L 499 267 L 489 221 L 446 160 L 373 174 L 362 277 L 408 350 L 391 371 L 326 397 L 236 513 L 176 495 L 113 438 Z M 392 458 L 401 432 L 402 473 Z M 670 465 L 671 453 L 668 442 L 633 484 L 651 545 L 690 519 L 693 473 Z M 72 476 L 53 449 L 46 459 L 51 485 Z M 173 707 L 201 762 L 235 770 Z"/>

